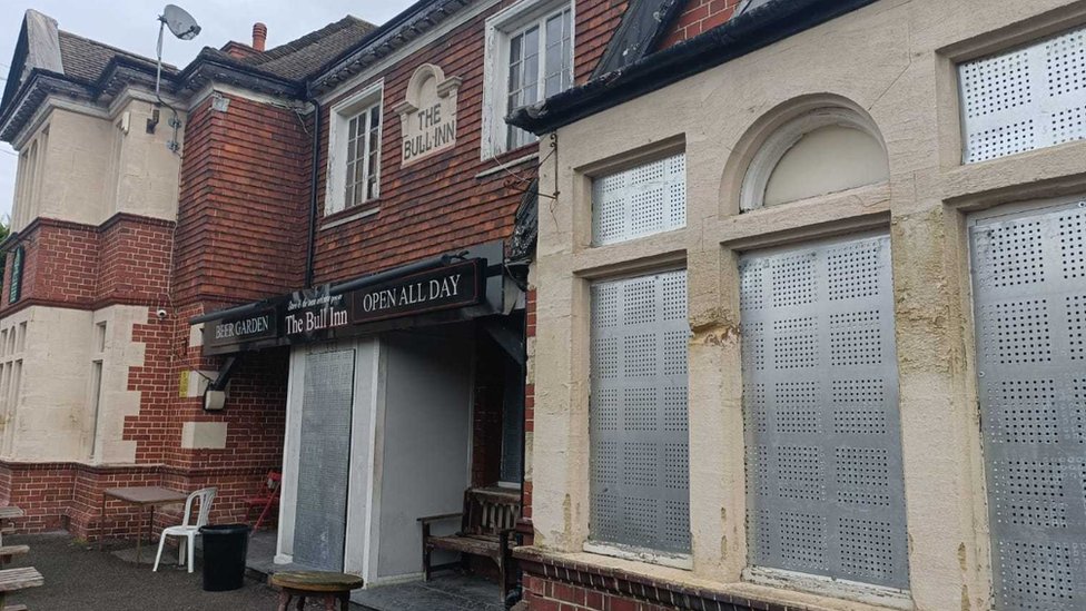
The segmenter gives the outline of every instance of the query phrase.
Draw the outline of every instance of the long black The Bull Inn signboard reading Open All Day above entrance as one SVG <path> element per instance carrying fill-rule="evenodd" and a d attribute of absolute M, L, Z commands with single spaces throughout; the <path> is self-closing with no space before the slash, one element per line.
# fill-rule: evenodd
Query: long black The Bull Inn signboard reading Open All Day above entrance
<path fill-rule="evenodd" d="M 204 341 L 213 349 L 316 341 L 342 327 L 473 306 L 483 298 L 484 274 L 484 259 L 467 259 L 354 290 L 298 290 L 207 323 Z"/>

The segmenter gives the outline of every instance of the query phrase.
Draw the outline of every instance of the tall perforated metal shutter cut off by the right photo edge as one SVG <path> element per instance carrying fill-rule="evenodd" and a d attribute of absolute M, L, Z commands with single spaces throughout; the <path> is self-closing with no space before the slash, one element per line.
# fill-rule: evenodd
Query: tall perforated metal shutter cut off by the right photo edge
<path fill-rule="evenodd" d="M 1086 609 L 1086 215 L 970 229 L 1000 611 Z"/>

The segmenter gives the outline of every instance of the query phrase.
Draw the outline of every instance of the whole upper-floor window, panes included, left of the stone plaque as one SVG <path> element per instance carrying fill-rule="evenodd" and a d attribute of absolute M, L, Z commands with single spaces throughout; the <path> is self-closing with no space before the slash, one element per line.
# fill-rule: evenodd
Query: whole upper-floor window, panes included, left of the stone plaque
<path fill-rule="evenodd" d="M 381 195 L 382 93 L 378 82 L 332 108 L 325 214 Z"/>

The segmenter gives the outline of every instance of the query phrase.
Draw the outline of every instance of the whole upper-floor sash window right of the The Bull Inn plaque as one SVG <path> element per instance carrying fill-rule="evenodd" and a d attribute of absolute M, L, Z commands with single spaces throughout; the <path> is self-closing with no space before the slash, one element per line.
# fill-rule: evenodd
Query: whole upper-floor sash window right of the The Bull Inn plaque
<path fill-rule="evenodd" d="M 483 157 L 536 140 L 505 116 L 573 86 L 573 4 L 521 0 L 486 22 Z"/>

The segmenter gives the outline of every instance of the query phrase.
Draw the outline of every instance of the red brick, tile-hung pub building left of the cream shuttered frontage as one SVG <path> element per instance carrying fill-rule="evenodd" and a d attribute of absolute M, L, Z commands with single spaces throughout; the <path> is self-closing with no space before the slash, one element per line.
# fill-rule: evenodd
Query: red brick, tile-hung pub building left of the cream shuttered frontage
<path fill-rule="evenodd" d="M 161 98 L 154 60 L 28 11 L 0 101 L 0 500 L 122 536 L 106 487 L 215 485 L 233 521 L 283 470 L 279 560 L 373 584 L 418 575 L 414 520 L 465 489 L 514 499 L 530 535 L 556 151 L 504 117 L 733 9 L 664 2 L 645 30 L 652 4 L 431 0 L 272 48 L 257 24 L 164 67 Z"/>

